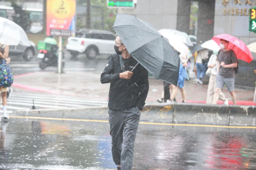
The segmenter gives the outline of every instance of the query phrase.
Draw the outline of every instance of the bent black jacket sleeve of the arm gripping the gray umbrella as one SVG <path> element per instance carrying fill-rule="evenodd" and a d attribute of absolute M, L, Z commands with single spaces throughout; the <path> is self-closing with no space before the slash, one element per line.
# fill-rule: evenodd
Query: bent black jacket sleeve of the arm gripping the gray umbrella
<path fill-rule="evenodd" d="M 100 75 L 100 82 L 102 84 L 111 83 L 111 82 L 119 79 L 120 73 L 112 74 L 113 68 L 114 68 L 114 61 L 111 56 L 110 59 L 108 60 L 108 64 L 106 65 L 105 69 L 103 70 L 103 72 Z"/>

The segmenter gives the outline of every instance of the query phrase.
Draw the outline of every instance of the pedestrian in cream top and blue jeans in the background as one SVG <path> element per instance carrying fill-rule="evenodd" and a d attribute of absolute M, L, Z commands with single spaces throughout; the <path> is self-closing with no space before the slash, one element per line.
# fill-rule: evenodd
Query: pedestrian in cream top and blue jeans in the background
<path fill-rule="evenodd" d="M 197 52 L 196 56 L 196 71 L 197 71 L 197 83 L 202 85 L 202 79 L 204 78 L 206 72 L 206 62 L 208 59 L 208 50 L 203 49 Z"/>

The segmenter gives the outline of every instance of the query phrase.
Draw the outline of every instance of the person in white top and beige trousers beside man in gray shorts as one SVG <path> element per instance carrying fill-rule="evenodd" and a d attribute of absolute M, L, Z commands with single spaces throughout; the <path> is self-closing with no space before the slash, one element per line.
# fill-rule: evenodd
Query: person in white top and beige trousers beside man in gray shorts
<path fill-rule="evenodd" d="M 215 89 L 215 80 L 216 80 L 216 75 L 217 75 L 217 55 L 218 52 L 214 51 L 213 54 L 211 55 L 209 62 L 207 64 L 207 67 L 210 68 L 210 79 L 209 79 L 209 84 L 208 84 L 208 90 L 207 90 L 207 98 L 206 98 L 206 104 L 212 104 L 213 103 L 213 95 L 214 95 L 214 89 Z M 207 72 L 209 69 L 207 70 Z M 224 101 L 225 105 L 228 105 L 228 99 L 225 98 L 225 95 L 223 92 L 220 92 L 220 100 Z"/>

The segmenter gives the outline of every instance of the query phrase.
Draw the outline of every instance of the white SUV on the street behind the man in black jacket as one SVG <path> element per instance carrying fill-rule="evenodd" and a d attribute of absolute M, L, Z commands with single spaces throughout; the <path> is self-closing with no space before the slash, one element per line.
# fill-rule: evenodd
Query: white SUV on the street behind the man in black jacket
<path fill-rule="evenodd" d="M 83 53 L 90 59 L 99 54 L 111 55 L 115 53 L 116 36 L 110 31 L 83 29 L 76 33 L 76 37 L 69 37 L 66 49 L 73 57 Z"/>

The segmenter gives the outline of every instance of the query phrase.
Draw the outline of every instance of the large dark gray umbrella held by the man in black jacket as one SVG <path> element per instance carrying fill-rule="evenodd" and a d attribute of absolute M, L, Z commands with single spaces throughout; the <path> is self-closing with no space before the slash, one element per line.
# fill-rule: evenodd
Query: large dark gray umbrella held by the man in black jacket
<path fill-rule="evenodd" d="M 156 79 L 177 85 L 180 57 L 151 24 L 132 15 L 117 14 L 113 28 L 130 55 Z"/>

